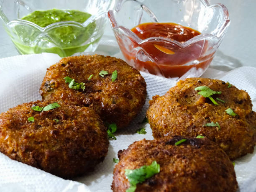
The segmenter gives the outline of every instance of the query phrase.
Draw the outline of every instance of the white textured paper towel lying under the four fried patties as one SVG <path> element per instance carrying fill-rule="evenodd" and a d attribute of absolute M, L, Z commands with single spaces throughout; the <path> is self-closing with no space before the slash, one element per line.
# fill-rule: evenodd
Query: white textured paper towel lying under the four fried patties
<path fill-rule="evenodd" d="M 33 54 L 0 59 L 0 113 L 23 102 L 41 99 L 38 92 L 46 68 L 56 61 L 55 54 Z M 143 110 L 126 131 L 116 133 L 117 140 L 110 141 L 108 155 L 95 171 L 75 181 L 64 180 L 18 161 L 13 161 L 0 153 L 0 191 L 1 192 L 108 192 L 111 191 L 113 158 L 120 149 L 125 149 L 134 141 L 143 138 L 153 139 L 149 125 L 139 124 L 148 108 L 148 100 L 153 95 L 164 95 L 175 81 L 141 73 L 147 83 L 147 100 Z M 256 68 L 240 67 L 230 72 L 208 69 L 203 77 L 228 81 L 239 89 L 246 90 L 256 110 Z M 147 134 L 136 133 L 138 128 L 146 127 Z M 256 191 L 256 153 L 236 160 L 236 177 L 241 192 Z"/>

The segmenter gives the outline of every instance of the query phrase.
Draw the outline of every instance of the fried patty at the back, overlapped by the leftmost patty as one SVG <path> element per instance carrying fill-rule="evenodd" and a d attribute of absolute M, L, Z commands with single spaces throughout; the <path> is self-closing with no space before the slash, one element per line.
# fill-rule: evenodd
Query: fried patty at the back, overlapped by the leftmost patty
<path fill-rule="evenodd" d="M 108 74 L 100 76 L 104 70 Z M 112 73 L 118 72 L 112 81 Z M 88 80 L 90 75 L 92 78 Z M 84 90 L 74 90 L 64 77 L 84 83 Z M 146 100 L 146 82 L 125 61 L 110 56 L 72 56 L 47 69 L 40 88 L 43 100 L 69 102 L 92 107 L 104 122 L 123 128 L 139 113 Z"/>

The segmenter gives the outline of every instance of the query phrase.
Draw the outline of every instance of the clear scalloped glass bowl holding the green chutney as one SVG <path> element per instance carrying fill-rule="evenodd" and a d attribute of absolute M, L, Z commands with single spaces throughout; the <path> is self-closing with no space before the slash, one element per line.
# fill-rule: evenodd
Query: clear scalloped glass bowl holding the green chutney
<path fill-rule="evenodd" d="M 95 51 L 108 20 L 107 11 L 113 5 L 113 0 L 0 0 L 0 18 L 21 54 L 50 52 L 64 57 Z M 79 10 L 91 16 L 84 23 L 61 21 L 46 27 L 20 19 L 35 10 L 53 8 Z"/>

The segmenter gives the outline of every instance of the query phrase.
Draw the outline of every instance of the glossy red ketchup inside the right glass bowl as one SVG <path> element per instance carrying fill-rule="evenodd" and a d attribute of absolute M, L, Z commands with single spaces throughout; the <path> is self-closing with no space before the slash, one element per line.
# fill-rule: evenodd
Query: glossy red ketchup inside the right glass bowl
<path fill-rule="evenodd" d="M 121 48 L 126 59 L 134 60 L 136 69 L 141 71 L 146 69 L 151 74 L 161 74 L 167 78 L 182 77 L 192 67 L 206 69 L 214 54 L 208 55 L 209 58 L 203 56 L 207 49 L 207 41 L 205 40 L 182 47 L 172 41 L 166 42 L 157 39 L 157 37 L 164 37 L 183 44 L 201 34 L 192 28 L 175 23 L 143 23 L 132 28 L 131 31 L 142 40 L 155 37 L 155 40 L 145 41 L 141 44 L 133 41 L 133 48 L 142 48 L 136 53 L 133 52 L 134 55 L 126 52 L 125 48 Z M 147 58 L 151 59 L 144 61 L 140 59 L 145 54 Z"/>

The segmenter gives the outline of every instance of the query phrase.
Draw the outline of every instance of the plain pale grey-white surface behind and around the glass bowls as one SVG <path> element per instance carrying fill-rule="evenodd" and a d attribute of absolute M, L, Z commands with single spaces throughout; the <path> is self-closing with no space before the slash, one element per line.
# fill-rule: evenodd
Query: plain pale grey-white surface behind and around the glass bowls
<path fill-rule="evenodd" d="M 224 4 L 228 8 L 231 20 L 210 67 L 225 71 L 240 66 L 256 67 L 256 0 L 209 0 L 209 2 Z M 0 58 L 18 55 L 2 24 L 0 25 Z M 105 39 L 114 36 L 109 23 L 104 35 Z M 218 63 L 218 57 L 227 62 Z"/>

